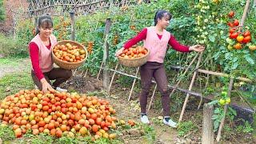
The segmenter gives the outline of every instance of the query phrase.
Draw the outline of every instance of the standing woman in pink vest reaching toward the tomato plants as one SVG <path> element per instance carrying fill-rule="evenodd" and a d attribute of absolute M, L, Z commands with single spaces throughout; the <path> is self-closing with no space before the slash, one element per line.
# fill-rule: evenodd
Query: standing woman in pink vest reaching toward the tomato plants
<path fill-rule="evenodd" d="M 171 14 L 168 11 L 158 10 L 154 17 L 154 26 L 144 28 L 136 37 L 131 38 L 125 43 L 121 50 L 117 51 L 116 56 L 122 54 L 122 50 L 129 49 L 138 42 L 145 40 L 144 47 L 150 50 L 150 55 L 146 64 L 140 68 L 142 81 L 142 92 L 139 97 L 141 121 L 142 123 L 150 123 L 146 115 L 146 103 L 147 96 L 150 91 L 151 80 L 154 78 L 158 84 L 158 90 L 162 95 L 163 122 L 168 126 L 176 127 L 177 123 L 170 119 L 170 97 L 168 94 L 166 70 L 163 64 L 168 44 L 172 46 L 174 50 L 183 53 L 190 51 L 202 52 L 205 47 L 200 45 L 183 46 L 179 44 L 175 40 L 174 36 L 170 34 L 170 32 L 166 31 L 166 27 L 169 25 L 170 19 Z"/>

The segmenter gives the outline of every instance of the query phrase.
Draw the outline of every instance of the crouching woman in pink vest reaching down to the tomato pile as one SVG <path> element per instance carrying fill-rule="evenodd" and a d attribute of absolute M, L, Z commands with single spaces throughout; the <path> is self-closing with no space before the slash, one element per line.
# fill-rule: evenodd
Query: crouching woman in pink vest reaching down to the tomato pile
<path fill-rule="evenodd" d="M 51 49 L 57 43 L 57 39 L 52 34 L 52 18 L 49 15 L 41 16 L 38 18 L 37 26 L 36 36 L 29 44 L 32 63 L 31 76 L 34 84 L 44 93 L 52 88 L 58 91 L 66 91 L 58 86 L 72 76 L 72 71 L 54 68 Z M 55 81 L 51 83 L 50 80 Z"/>

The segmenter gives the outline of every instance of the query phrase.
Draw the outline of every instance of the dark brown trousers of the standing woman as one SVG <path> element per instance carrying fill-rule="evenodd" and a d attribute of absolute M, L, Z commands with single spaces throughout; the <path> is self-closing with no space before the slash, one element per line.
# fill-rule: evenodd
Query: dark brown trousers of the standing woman
<path fill-rule="evenodd" d="M 157 82 L 158 90 L 162 95 L 163 115 L 170 115 L 170 97 L 168 94 L 166 70 L 163 63 L 146 62 L 141 66 L 140 74 L 142 78 L 142 93 L 139 97 L 141 112 L 146 113 L 147 96 L 150 92 L 152 78 Z"/>

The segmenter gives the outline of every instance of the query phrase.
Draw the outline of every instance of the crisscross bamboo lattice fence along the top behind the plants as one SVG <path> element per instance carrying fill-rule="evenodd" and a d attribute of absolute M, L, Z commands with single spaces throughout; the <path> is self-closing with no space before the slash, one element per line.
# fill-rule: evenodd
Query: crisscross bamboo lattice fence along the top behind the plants
<path fill-rule="evenodd" d="M 72 10 L 75 14 L 93 13 L 105 10 L 110 6 L 130 6 L 129 0 L 31 0 L 27 13 L 38 16 L 41 14 L 62 15 Z"/>

